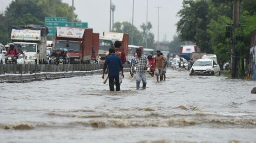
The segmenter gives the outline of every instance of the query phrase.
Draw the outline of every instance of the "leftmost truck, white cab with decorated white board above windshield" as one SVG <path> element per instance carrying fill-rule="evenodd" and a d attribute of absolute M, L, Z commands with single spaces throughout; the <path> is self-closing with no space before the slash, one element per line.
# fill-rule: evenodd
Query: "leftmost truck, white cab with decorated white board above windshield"
<path fill-rule="evenodd" d="M 48 28 L 43 25 L 12 26 L 11 40 L 15 47 L 21 45 L 24 64 L 46 63 Z"/>

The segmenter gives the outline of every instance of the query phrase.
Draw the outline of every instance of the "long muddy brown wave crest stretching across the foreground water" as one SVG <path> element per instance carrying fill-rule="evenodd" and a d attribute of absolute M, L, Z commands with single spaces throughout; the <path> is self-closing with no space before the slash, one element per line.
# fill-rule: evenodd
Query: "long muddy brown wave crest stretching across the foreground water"
<path fill-rule="evenodd" d="M 95 128 L 129 128 L 129 127 L 171 127 L 171 126 L 193 126 L 199 124 L 221 125 L 230 128 L 255 128 L 256 118 L 191 118 L 179 119 L 150 119 L 150 120 L 127 120 L 127 119 L 93 119 L 89 121 L 75 121 L 67 123 L 6 123 L 0 124 L 2 129 L 29 130 L 35 127 L 70 127 L 70 126 L 91 126 Z M 207 125 L 207 126 L 208 126 Z"/>

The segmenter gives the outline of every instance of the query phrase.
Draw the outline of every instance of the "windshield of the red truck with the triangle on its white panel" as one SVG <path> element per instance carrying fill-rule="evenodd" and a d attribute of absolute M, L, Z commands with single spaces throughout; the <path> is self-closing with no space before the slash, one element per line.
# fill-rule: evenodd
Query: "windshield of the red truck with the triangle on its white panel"
<path fill-rule="evenodd" d="M 80 47 L 78 42 L 65 42 L 65 41 L 56 41 L 55 50 L 67 50 L 67 52 L 79 53 Z"/>

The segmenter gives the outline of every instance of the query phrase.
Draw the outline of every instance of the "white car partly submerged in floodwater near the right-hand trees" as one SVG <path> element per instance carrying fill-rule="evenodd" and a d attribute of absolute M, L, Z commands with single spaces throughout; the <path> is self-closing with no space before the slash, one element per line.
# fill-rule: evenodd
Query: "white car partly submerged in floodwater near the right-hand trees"
<path fill-rule="evenodd" d="M 209 58 L 198 59 L 189 71 L 189 75 L 221 75 L 219 64 Z"/>

